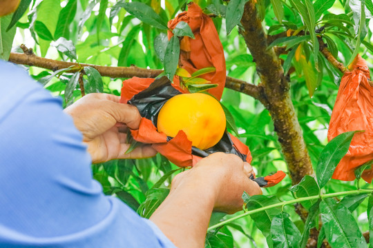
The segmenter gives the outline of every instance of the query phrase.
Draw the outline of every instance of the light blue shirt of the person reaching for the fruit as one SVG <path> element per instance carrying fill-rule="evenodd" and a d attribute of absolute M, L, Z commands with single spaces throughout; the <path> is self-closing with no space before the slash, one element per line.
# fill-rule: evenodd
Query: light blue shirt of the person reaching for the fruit
<path fill-rule="evenodd" d="M 0 247 L 175 247 L 105 196 L 90 162 L 61 100 L 0 61 Z"/>

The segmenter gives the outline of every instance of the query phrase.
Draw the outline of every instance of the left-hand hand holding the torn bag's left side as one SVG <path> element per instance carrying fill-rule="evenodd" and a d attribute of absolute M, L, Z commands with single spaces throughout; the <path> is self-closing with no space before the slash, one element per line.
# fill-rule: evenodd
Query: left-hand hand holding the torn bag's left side
<path fill-rule="evenodd" d="M 137 129 L 141 116 L 136 107 L 119 103 L 119 99 L 111 94 L 87 94 L 64 110 L 82 132 L 93 163 L 116 158 L 146 158 L 157 153 L 150 145 L 143 145 L 125 154 L 130 146 L 126 143 L 126 131 Z"/>

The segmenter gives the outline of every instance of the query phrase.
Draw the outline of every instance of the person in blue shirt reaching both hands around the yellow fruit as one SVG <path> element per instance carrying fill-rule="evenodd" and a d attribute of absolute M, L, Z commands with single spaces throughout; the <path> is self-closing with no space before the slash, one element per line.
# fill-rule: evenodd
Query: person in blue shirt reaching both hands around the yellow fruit
<path fill-rule="evenodd" d="M 1 3 L 0 3 L 1 8 Z M 93 180 L 91 163 L 154 156 L 131 154 L 126 129 L 136 107 L 119 96 L 61 100 L 17 65 L 0 61 L 0 247 L 204 247 L 213 210 L 242 209 L 242 192 L 261 194 L 252 168 L 216 153 L 178 174 L 166 200 L 146 220 Z"/>

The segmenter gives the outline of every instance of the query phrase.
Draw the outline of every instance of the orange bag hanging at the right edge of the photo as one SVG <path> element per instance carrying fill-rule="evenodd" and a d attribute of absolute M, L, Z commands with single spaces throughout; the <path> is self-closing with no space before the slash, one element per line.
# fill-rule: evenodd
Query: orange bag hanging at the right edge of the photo
<path fill-rule="evenodd" d="M 354 170 L 373 159 L 373 87 L 369 83 L 370 73 L 366 61 L 356 56 L 350 65 L 350 72 L 345 72 L 339 86 L 336 103 L 330 118 L 327 139 L 344 132 L 357 132 L 352 138 L 350 149 L 338 163 L 333 178 L 354 180 Z M 372 182 L 373 169 L 366 169 L 362 178 Z"/>

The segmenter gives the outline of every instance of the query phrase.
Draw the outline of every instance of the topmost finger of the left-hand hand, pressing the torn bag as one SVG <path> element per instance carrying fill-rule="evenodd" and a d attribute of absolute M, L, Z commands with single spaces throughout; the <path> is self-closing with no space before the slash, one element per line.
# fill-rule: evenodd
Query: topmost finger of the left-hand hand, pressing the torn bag
<path fill-rule="evenodd" d="M 137 107 L 124 104 L 124 103 L 114 103 L 111 101 L 107 102 L 108 108 L 106 111 L 111 114 L 115 121 L 119 123 L 125 123 L 129 128 L 137 130 L 140 125 L 141 116 Z"/>

